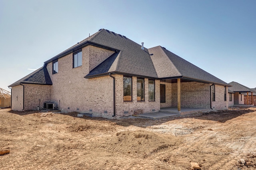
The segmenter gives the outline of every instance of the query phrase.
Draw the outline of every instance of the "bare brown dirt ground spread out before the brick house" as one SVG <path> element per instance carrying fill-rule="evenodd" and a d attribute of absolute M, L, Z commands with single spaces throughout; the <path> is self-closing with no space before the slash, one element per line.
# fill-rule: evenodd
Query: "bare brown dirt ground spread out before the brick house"
<path fill-rule="evenodd" d="M 256 169 L 256 108 L 149 120 L 0 109 L 0 169 Z M 252 166 L 243 166 L 244 158 Z"/>

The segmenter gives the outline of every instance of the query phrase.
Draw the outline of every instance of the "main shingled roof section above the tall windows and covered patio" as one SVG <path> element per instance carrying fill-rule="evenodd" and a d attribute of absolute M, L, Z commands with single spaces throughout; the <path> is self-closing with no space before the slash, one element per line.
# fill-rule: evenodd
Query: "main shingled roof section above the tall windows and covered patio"
<path fill-rule="evenodd" d="M 121 52 L 118 54 L 118 57 L 114 54 L 116 58 L 114 56 L 107 58 L 87 74 L 85 78 L 115 72 L 156 79 L 186 78 L 187 80 L 230 86 L 161 46 L 149 49 L 144 48 L 142 50 L 140 44 L 133 42 L 125 36 L 104 29 L 100 30 L 89 41 L 118 49 Z M 153 55 L 150 56 L 150 54 Z M 102 66 L 106 66 L 109 69 L 104 69 L 103 71 Z M 110 68 L 112 69 L 110 70 Z"/>

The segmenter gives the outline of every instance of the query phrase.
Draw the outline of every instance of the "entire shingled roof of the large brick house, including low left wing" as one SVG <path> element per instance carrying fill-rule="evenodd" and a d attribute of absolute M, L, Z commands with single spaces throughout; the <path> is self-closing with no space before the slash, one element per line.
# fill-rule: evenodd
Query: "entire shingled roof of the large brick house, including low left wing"
<path fill-rule="evenodd" d="M 93 45 L 112 50 L 115 53 L 96 66 L 85 78 L 105 76 L 107 74 L 124 74 L 154 79 L 181 78 L 188 81 L 199 81 L 230 86 L 212 74 L 198 68 L 194 64 L 180 58 L 161 46 L 141 49 L 141 45 L 126 36 L 109 30 L 100 29 L 98 32 L 64 50 L 50 60 L 44 62 L 44 67 L 18 80 L 10 86 L 22 83 L 52 84 L 46 70 L 46 65 L 58 58 L 64 57 L 85 46 Z M 153 55 L 150 55 L 153 54 Z"/>

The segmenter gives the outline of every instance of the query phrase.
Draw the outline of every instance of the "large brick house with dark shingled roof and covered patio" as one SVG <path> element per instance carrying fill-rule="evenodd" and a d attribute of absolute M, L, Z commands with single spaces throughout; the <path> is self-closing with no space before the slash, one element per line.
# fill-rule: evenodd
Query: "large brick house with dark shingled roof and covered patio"
<path fill-rule="evenodd" d="M 162 107 L 228 109 L 229 86 L 162 46 L 147 49 L 105 29 L 10 85 L 12 110 L 50 101 L 63 112 L 106 118 Z"/>

